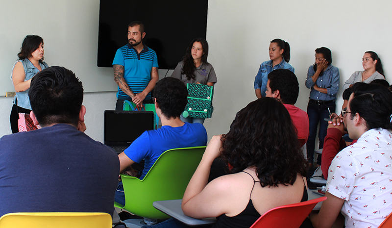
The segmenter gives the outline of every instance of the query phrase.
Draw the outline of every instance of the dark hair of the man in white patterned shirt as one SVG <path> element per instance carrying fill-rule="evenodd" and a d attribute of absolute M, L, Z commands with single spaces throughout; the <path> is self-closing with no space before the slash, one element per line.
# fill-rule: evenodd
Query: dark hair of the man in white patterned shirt
<path fill-rule="evenodd" d="M 352 86 L 351 117 L 358 113 L 366 121 L 367 129 L 392 130 L 392 93 L 377 84 L 357 82 Z"/>

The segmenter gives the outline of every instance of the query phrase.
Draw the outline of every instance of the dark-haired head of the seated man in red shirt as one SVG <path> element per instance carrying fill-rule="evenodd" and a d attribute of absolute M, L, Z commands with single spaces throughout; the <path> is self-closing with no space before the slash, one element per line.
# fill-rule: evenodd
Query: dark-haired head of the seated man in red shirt
<path fill-rule="evenodd" d="M 298 79 L 293 72 L 286 69 L 277 69 L 268 75 L 271 92 L 279 90 L 282 103 L 294 104 L 299 93 Z"/>

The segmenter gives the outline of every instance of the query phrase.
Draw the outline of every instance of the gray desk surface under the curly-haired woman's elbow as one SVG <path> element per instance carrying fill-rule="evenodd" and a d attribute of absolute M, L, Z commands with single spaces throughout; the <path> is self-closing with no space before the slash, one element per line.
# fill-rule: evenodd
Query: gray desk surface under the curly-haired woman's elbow
<path fill-rule="evenodd" d="M 216 218 L 195 219 L 184 215 L 184 212 L 182 212 L 181 209 L 181 201 L 182 200 L 155 201 L 152 205 L 163 213 L 168 214 L 191 227 L 213 224 L 217 221 Z"/>

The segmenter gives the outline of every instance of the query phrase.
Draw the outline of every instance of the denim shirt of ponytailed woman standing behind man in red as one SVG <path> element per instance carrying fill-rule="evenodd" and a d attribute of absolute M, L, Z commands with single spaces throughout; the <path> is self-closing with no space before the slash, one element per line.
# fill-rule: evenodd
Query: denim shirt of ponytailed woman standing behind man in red
<path fill-rule="evenodd" d="M 285 59 L 275 66 L 272 66 L 272 60 L 263 62 L 254 78 L 254 89 L 260 89 L 263 98 L 266 96 L 268 74 L 276 69 L 287 69 L 294 73 L 294 67 L 290 63 L 287 63 Z"/>

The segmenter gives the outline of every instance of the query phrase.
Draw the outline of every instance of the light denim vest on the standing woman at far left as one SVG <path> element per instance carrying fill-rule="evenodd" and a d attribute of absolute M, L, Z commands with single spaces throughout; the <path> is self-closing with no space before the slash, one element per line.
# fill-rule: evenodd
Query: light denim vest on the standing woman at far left
<path fill-rule="evenodd" d="M 35 76 L 38 72 L 40 72 L 27 58 L 18 60 L 17 62 L 21 62 L 23 64 L 23 68 L 25 69 L 25 81 L 30 80 L 31 78 L 33 78 L 33 76 Z M 12 72 L 14 71 L 15 64 L 12 67 Z M 49 67 L 48 64 L 46 64 L 46 62 L 39 63 L 39 64 L 42 70 Z M 12 72 L 11 72 L 11 80 L 12 80 Z M 28 88 L 26 91 L 23 92 L 17 92 L 12 103 L 15 104 L 16 99 L 18 99 L 19 107 L 31 110 L 30 100 L 28 98 L 29 90 L 30 88 Z"/>

